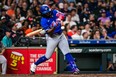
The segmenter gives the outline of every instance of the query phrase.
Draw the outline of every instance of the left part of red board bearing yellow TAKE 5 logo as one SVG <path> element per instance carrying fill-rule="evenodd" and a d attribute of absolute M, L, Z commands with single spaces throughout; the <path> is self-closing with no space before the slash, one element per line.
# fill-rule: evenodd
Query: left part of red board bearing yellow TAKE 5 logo
<path fill-rule="evenodd" d="M 8 74 L 27 74 L 29 73 L 29 60 L 27 49 L 6 49 Z"/>

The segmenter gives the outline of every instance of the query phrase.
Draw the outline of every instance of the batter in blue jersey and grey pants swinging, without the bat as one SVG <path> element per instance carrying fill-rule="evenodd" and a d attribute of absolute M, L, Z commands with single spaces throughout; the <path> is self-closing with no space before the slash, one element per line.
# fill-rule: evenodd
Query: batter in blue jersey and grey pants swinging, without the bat
<path fill-rule="evenodd" d="M 54 49 L 58 46 L 63 55 L 66 57 L 67 62 L 70 64 L 72 73 L 78 74 L 79 69 L 77 68 L 72 55 L 69 53 L 68 41 L 65 35 L 62 33 L 61 20 L 64 18 L 63 13 L 57 10 L 51 10 L 47 5 L 40 7 L 42 14 L 41 26 L 46 32 L 47 49 L 44 56 L 40 57 L 35 63 L 31 65 L 31 74 L 35 74 L 36 66 L 42 62 L 48 60 Z"/>

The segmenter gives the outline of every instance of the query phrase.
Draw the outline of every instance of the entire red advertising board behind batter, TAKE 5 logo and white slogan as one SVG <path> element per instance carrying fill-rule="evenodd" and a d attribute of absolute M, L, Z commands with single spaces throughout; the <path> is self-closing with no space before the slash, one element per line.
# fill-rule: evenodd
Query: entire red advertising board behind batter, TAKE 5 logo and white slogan
<path fill-rule="evenodd" d="M 45 48 L 10 48 L 6 49 L 8 74 L 29 74 L 30 65 L 43 56 Z M 44 63 L 37 66 L 36 74 L 55 74 L 56 73 L 56 52 Z"/>

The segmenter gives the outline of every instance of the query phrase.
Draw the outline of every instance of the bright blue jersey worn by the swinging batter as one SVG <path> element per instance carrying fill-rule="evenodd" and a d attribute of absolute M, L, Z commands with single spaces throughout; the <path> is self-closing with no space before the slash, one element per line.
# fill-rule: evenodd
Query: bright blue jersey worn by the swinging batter
<path fill-rule="evenodd" d="M 51 13 L 52 13 L 52 17 L 50 18 L 44 18 L 42 17 L 41 19 L 41 26 L 44 30 L 49 30 L 51 29 L 56 23 L 57 23 L 57 19 L 58 17 L 56 16 L 56 14 L 58 13 L 59 11 L 57 10 L 52 10 Z M 53 34 L 56 34 L 56 33 L 62 33 L 62 29 L 61 29 L 61 23 L 59 23 L 56 27 L 56 29 L 54 30 Z"/>

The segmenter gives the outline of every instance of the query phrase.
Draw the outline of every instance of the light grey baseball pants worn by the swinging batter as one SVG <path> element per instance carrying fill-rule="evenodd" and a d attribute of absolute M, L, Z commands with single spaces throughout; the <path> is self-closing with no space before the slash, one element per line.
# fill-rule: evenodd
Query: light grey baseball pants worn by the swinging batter
<path fill-rule="evenodd" d="M 51 55 L 54 52 L 54 49 L 57 46 L 62 51 L 63 55 L 69 53 L 70 49 L 69 49 L 68 41 L 63 33 L 61 35 L 56 35 L 53 38 L 50 36 L 46 36 L 46 39 L 47 39 L 47 49 L 45 56 L 47 59 L 51 57 Z"/>

